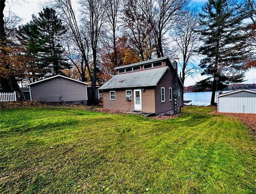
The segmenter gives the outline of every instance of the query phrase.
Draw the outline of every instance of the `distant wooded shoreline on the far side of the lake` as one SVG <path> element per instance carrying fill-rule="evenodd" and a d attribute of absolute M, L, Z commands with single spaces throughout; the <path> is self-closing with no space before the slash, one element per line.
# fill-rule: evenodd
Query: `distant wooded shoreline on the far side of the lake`
<path fill-rule="evenodd" d="M 241 89 L 256 89 L 256 84 L 230 84 L 224 90 L 241 90 Z M 184 87 L 184 92 L 196 92 L 196 85 Z M 204 92 L 211 92 L 210 88 L 206 88 Z"/>

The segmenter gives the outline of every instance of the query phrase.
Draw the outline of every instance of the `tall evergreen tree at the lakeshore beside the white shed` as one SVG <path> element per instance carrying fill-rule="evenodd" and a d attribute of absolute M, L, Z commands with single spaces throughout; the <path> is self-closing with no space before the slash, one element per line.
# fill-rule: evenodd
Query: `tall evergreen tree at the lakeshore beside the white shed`
<path fill-rule="evenodd" d="M 197 83 L 198 91 L 211 88 L 211 104 L 216 90 L 223 90 L 230 83 L 244 80 L 243 62 L 246 48 L 243 44 L 241 22 L 244 19 L 228 0 L 208 0 L 200 13 L 200 29 L 204 44 L 199 53 L 205 56 L 200 62 L 202 75 L 208 78 Z"/>

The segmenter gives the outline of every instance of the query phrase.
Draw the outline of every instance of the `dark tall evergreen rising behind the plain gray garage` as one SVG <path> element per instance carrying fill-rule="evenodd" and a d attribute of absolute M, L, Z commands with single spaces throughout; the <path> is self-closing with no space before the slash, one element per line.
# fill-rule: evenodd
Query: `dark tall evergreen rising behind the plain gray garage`
<path fill-rule="evenodd" d="M 30 23 L 22 26 L 21 30 L 28 39 L 29 54 L 38 59 L 35 62 L 35 68 L 41 72 L 38 76 L 62 74 L 61 70 L 69 68 L 60 44 L 66 27 L 58 19 L 54 9 L 44 8 L 39 12 L 39 17 L 32 15 Z"/>

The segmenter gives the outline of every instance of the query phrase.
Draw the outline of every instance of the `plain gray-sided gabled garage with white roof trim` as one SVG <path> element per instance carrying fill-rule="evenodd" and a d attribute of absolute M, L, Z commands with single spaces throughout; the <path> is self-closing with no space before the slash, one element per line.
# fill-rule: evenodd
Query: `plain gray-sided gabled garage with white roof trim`
<path fill-rule="evenodd" d="M 31 100 L 87 105 L 87 83 L 56 75 L 28 84 Z"/>

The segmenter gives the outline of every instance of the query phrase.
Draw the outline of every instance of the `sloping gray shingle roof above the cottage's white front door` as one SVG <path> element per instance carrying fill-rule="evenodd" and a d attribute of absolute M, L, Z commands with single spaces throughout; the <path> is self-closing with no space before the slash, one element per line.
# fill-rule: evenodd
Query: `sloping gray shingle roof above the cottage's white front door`
<path fill-rule="evenodd" d="M 118 74 L 108 80 L 99 90 L 156 86 L 168 69 L 167 66 L 125 74 Z"/>

